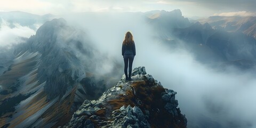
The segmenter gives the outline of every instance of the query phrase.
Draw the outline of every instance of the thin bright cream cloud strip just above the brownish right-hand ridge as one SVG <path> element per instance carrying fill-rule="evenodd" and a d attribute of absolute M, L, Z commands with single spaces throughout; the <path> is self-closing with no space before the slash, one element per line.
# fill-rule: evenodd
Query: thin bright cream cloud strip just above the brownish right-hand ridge
<path fill-rule="evenodd" d="M 225 12 L 225 13 L 215 13 L 214 16 L 223 16 L 223 17 L 255 17 L 255 12 L 239 11 L 239 12 Z"/>

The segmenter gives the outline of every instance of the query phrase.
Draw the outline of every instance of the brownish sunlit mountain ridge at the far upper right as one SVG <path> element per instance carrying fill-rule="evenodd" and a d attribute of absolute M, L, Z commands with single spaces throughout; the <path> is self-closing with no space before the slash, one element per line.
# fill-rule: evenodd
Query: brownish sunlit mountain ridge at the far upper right
<path fill-rule="evenodd" d="M 256 17 L 221 17 L 214 16 L 199 19 L 199 22 L 208 22 L 214 29 L 224 29 L 230 32 L 242 32 L 256 38 Z"/>

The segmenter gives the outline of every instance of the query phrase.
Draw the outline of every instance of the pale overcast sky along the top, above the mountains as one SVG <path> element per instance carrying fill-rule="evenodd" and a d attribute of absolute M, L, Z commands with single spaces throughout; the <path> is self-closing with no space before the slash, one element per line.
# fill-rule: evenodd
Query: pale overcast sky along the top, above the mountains
<path fill-rule="evenodd" d="M 0 0 L 0 11 L 34 14 L 70 12 L 146 12 L 180 9 L 185 16 L 207 17 L 218 14 L 255 14 L 256 0 Z M 231 12 L 231 13 L 230 13 Z"/>

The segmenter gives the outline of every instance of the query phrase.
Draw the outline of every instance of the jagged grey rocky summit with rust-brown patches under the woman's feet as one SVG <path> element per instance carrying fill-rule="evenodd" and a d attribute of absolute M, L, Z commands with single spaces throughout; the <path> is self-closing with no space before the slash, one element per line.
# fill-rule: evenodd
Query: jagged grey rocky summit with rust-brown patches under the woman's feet
<path fill-rule="evenodd" d="M 125 76 L 98 100 L 85 100 L 63 127 L 187 127 L 173 90 L 134 68 L 132 81 Z"/>

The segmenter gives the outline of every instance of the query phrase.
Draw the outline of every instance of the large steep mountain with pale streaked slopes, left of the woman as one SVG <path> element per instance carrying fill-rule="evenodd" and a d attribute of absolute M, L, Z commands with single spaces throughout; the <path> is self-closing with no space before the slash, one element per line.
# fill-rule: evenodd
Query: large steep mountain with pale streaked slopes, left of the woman
<path fill-rule="evenodd" d="M 97 74 L 104 55 L 63 19 L 45 22 L 13 49 L 13 59 L 2 62 L 9 68 L 0 75 L 0 127 L 61 126 L 116 81 Z"/>

